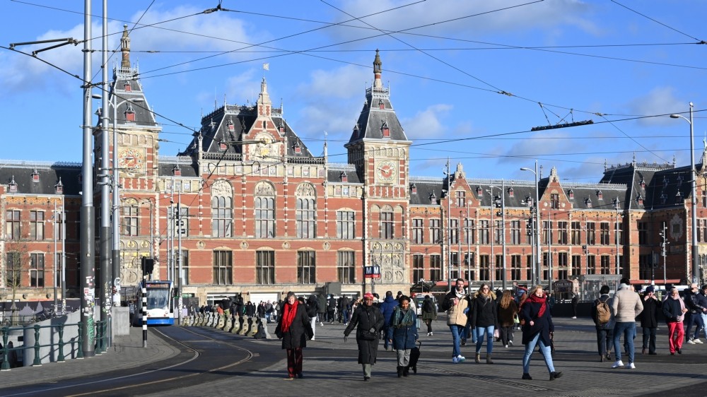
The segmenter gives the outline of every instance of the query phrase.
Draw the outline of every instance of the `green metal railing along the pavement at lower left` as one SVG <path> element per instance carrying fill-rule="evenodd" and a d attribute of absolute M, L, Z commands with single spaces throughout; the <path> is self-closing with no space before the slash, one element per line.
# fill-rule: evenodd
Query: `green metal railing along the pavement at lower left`
<path fill-rule="evenodd" d="M 76 327 L 77 335 L 78 335 L 78 340 L 76 341 L 78 343 L 78 348 L 76 351 L 76 358 L 83 358 L 83 338 L 81 337 L 81 325 L 83 323 L 79 321 L 78 323 L 74 324 L 56 324 L 56 325 L 48 325 L 48 326 L 40 326 L 39 324 L 35 324 L 33 326 L 3 326 L 0 328 L 0 332 L 2 333 L 2 348 L 0 348 L 0 359 L 2 360 L 2 364 L 0 365 L 0 370 L 2 371 L 9 371 L 11 368 L 10 365 L 10 355 L 12 352 L 15 352 L 17 355 L 22 354 L 24 356 L 24 351 L 27 349 L 33 349 L 35 352 L 35 357 L 32 362 L 32 366 L 39 366 L 42 365 L 42 360 L 40 358 L 40 348 L 53 348 L 57 347 L 57 362 L 64 362 L 66 357 L 64 356 L 64 346 L 69 345 L 74 343 L 74 340 L 69 340 L 69 341 L 64 341 L 64 330 L 67 327 Z M 40 343 L 40 336 L 42 333 L 42 329 L 46 330 L 49 329 L 49 332 L 52 332 L 56 328 L 57 333 L 59 334 L 59 340 L 57 343 L 47 343 L 42 345 Z M 95 352 L 100 354 L 103 353 L 107 350 L 107 324 L 106 321 L 95 321 L 95 328 L 96 328 L 96 338 L 95 338 Z M 26 345 L 23 343 L 21 346 L 13 346 L 13 347 L 8 347 L 8 342 L 10 338 L 10 333 L 12 331 L 18 331 L 21 330 L 23 335 L 25 331 L 32 330 L 34 331 L 34 336 L 35 336 L 35 343 L 33 345 Z M 49 338 L 49 340 L 53 340 L 53 338 Z"/>

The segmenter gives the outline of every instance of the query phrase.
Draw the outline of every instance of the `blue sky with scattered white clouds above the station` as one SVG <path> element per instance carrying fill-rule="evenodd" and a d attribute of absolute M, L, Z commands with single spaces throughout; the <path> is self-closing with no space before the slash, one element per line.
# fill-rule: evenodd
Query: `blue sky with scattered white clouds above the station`
<path fill-rule="evenodd" d="M 93 49 L 101 45 L 101 4 L 93 1 Z M 217 4 L 109 1 L 109 47 L 119 47 L 124 23 L 135 28 L 132 62 L 148 104 L 168 117 L 158 119 L 168 140 L 160 155 L 191 140 L 177 122 L 198 129 L 215 102 L 252 103 L 265 73 L 273 102 L 282 100 L 284 117 L 312 153 L 322 154 L 327 131 L 329 161 L 346 162 L 344 143 L 373 79 L 375 49 L 414 141 L 416 176 L 443 176 L 447 158 L 452 170 L 461 162 L 467 177 L 498 179 L 532 179 L 519 169 L 537 159 L 544 175 L 556 167 L 575 182 L 597 182 L 604 162 L 634 155 L 687 165 L 689 124 L 665 115 L 689 117 L 689 102 L 697 161 L 704 147 L 707 45 L 695 43 L 707 40 L 705 1 L 223 0 L 230 11 L 201 13 Z M 2 10 L 3 47 L 83 39 L 83 1 L 2 0 Z M 82 48 L 38 57 L 81 76 Z M 93 60 L 98 82 L 100 52 Z M 119 54 L 109 78 L 116 61 Z M 80 86 L 0 48 L 0 159 L 81 161 Z M 588 119 L 595 124 L 530 131 Z"/>

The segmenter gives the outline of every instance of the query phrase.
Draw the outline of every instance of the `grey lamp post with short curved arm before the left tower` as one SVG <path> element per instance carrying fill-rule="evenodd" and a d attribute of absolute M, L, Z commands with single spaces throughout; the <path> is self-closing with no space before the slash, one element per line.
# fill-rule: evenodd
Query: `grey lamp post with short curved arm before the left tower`
<path fill-rule="evenodd" d="M 118 170 L 118 132 L 117 132 L 117 119 L 118 119 L 118 107 L 123 105 L 125 102 L 145 102 L 143 98 L 129 98 L 121 102 L 117 102 L 117 95 L 115 95 L 115 85 L 113 86 L 113 93 L 111 95 L 112 106 L 113 106 L 113 180 L 112 180 L 112 190 L 113 190 L 113 213 L 112 213 L 112 275 L 113 275 L 113 286 L 115 286 L 115 295 L 113 295 L 113 302 L 120 304 L 120 196 L 118 191 L 119 182 L 119 170 Z M 152 227 L 152 225 L 150 226 Z"/>

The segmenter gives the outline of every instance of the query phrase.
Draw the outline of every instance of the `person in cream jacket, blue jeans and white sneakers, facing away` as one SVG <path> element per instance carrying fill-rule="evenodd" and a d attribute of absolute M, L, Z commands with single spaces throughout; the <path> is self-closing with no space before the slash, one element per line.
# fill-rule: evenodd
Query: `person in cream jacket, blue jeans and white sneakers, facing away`
<path fill-rule="evenodd" d="M 631 289 L 628 278 L 621 278 L 619 290 L 612 299 L 612 310 L 617 320 L 614 326 L 614 353 L 617 355 L 617 360 L 612 368 L 624 367 L 624 362 L 621 361 L 621 335 L 623 335 L 626 354 L 629 355 L 626 368 L 634 369 L 636 365 L 633 362 L 633 338 L 636 336 L 636 316 L 643 311 L 643 303 L 641 297 Z"/>

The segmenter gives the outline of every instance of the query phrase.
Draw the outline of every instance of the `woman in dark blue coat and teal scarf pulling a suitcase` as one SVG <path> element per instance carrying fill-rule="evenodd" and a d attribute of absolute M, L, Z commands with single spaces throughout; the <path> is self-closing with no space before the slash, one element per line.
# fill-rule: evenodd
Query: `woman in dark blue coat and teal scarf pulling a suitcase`
<path fill-rule="evenodd" d="M 417 314 L 410 307 L 410 298 L 402 295 L 400 303 L 395 307 L 390 318 L 392 328 L 392 348 L 397 352 L 397 375 L 407 377 L 410 370 L 410 350 L 415 347 L 419 336 L 417 334 Z"/>

